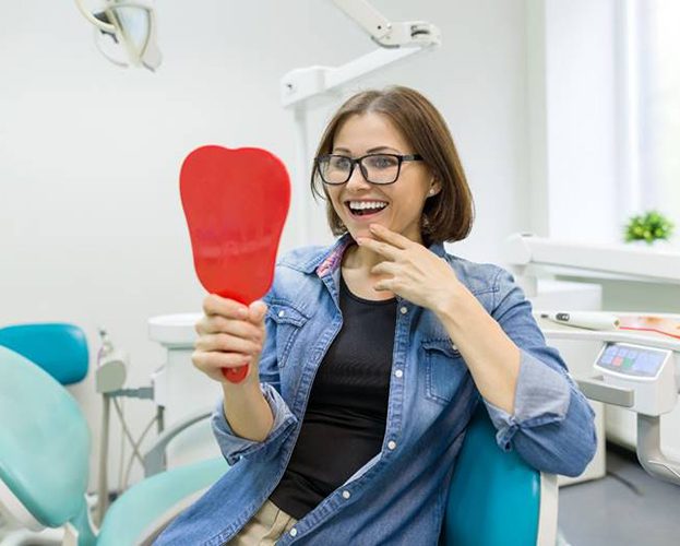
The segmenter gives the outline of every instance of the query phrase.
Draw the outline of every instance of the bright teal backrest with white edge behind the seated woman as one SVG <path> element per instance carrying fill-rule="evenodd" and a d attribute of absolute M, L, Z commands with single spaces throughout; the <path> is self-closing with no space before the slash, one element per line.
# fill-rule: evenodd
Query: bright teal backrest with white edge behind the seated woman
<path fill-rule="evenodd" d="M 496 443 L 479 404 L 454 470 L 440 544 L 550 545 L 557 539 L 557 476 L 541 474 Z"/>

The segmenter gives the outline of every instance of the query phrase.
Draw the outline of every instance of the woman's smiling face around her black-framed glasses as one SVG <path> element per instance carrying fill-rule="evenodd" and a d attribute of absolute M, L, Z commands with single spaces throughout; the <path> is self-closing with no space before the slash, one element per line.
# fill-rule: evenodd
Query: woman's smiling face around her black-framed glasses
<path fill-rule="evenodd" d="M 356 158 L 375 153 L 408 155 L 415 151 L 387 117 L 367 112 L 345 120 L 335 134 L 331 153 Z M 394 183 L 369 183 L 356 165 L 346 183 L 325 185 L 325 189 L 336 214 L 355 239 L 371 237 L 369 225 L 381 224 L 411 240 L 422 242 L 422 207 L 425 200 L 439 191 L 439 185 L 432 181 L 432 175 L 425 163 L 404 162 Z M 429 193 L 431 189 L 434 191 Z M 350 207 L 350 203 L 354 206 Z M 367 203 L 381 203 L 385 206 L 356 211 L 359 206 L 366 207 Z"/>

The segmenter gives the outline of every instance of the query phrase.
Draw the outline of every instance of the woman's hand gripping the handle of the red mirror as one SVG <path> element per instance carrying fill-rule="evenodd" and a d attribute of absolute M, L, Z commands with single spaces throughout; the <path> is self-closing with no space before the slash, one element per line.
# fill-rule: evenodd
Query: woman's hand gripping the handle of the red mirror
<path fill-rule="evenodd" d="M 259 381 L 258 363 L 264 345 L 266 305 L 253 301 L 246 306 L 215 294 L 203 300 L 203 317 L 195 325 L 199 339 L 191 356 L 193 365 L 206 376 L 225 385 L 238 388 Z M 222 368 L 249 366 L 248 376 L 230 383 Z"/>

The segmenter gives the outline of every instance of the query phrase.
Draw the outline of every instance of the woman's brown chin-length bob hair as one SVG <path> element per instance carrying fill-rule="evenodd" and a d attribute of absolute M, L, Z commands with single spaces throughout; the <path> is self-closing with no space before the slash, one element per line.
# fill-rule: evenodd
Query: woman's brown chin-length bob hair
<path fill-rule="evenodd" d="M 473 227 L 474 203 L 458 153 L 441 114 L 417 91 L 393 86 L 351 96 L 329 122 L 315 156 L 332 152 L 335 134 L 350 116 L 368 112 L 389 118 L 413 146 L 409 153 L 420 154 L 434 179 L 441 183 L 441 191 L 427 199 L 422 210 L 423 241 L 430 245 L 467 237 Z M 347 228 L 327 199 L 315 167 L 312 169 L 311 190 L 315 198 L 326 200 L 326 216 L 333 235 L 345 234 Z"/>

